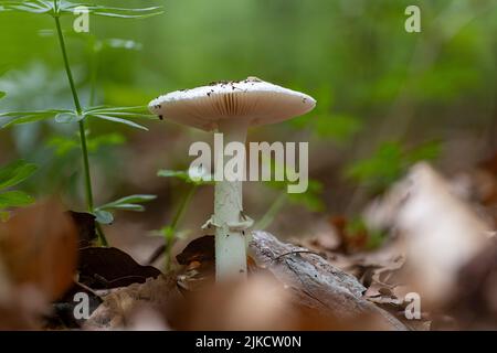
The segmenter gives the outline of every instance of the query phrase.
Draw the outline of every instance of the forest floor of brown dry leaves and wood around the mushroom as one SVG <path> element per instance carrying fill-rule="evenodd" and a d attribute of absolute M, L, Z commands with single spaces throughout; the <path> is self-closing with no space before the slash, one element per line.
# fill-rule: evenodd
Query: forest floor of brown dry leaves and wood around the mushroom
<path fill-rule="evenodd" d="M 0 224 L 0 328 L 497 329 L 496 180 L 497 156 L 452 179 L 416 164 L 364 208 L 382 246 L 345 217 L 295 240 L 254 231 L 248 279 L 225 284 L 212 235 L 162 272 L 95 247 L 94 216 L 39 203 Z"/>

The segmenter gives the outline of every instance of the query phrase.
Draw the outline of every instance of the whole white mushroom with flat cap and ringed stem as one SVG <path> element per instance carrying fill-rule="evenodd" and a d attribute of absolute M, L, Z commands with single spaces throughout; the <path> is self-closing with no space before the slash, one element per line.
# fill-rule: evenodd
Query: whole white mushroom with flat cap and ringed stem
<path fill-rule="evenodd" d="M 245 143 L 251 126 L 275 124 L 311 110 L 316 100 L 303 93 L 276 86 L 255 77 L 241 82 L 220 82 L 160 96 L 149 104 L 151 113 L 205 131 L 223 133 L 224 143 Z M 219 158 L 216 156 L 215 165 Z M 224 162 L 224 161 L 223 161 Z M 215 184 L 216 279 L 246 276 L 245 229 L 252 225 L 242 207 L 242 182 Z"/>

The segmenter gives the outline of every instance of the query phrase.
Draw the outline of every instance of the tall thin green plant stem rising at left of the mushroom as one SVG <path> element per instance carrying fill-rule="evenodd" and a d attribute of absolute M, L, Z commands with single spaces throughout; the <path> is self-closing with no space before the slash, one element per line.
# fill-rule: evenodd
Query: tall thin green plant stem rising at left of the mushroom
<path fill-rule="evenodd" d="M 57 30 L 59 44 L 61 46 L 62 57 L 64 61 L 65 73 L 67 75 L 67 81 L 71 86 L 71 92 L 72 92 L 73 100 L 74 100 L 74 107 L 76 108 L 76 113 L 78 115 L 81 115 L 83 113 L 83 109 L 81 107 L 80 97 L 77 96 L 76 85 L 74 84 L 73 74 L 71 72 L 71 66 L 68 63 L 67 51 L 65 49 L 64 36 L 62 34 L 62 28 L 61 28 L 61 21 L 59 19 L 59 13 L 57 13 L 59 12 L 57 11 L 57 0 L 54 0 L 53 3 L 54 3 L 54 10 L 55 10 L 55 13 L 54 13 L 55 26 Z M 87 206 L 88 212 L 93 213 L 94 205 L 93 205 L 92 176 L 91 176 L 91 172 L 89 172 L 88 149 L 86 147 L 86 133 L 85 133 L 84 119 L 80 120 L 78 125 L 80 125 L 80 140 L 81 140 L 81 150 L 82 150 L 82 154 L 83 154 L 83 165 L 84 165 L 84 176 L 85 176 L 86 206 Z M 101 244 L 106 246 L 107 239 L 105 238 L 105 235 L 102 232 L 102 228 L 99 227 L 99 225 L 97 225 L 97 229 L 98 229 L 97 233 L 98 233 L 98 238 L 99 238 Z"/>

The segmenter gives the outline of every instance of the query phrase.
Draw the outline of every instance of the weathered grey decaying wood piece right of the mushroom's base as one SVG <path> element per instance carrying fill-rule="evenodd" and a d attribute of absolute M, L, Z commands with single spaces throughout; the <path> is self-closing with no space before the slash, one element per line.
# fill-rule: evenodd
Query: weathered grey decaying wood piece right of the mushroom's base
<path fill-rule="evenodd" d="M 366 288 L 351 275 L 317 254 L 279 242 L 266 232 L 254 232 L 250 255 L 293 290 L 299 304 L 337 319 L 374 317 L 391 330 L 406 328 L 387 311 L 362 298 Z"/>

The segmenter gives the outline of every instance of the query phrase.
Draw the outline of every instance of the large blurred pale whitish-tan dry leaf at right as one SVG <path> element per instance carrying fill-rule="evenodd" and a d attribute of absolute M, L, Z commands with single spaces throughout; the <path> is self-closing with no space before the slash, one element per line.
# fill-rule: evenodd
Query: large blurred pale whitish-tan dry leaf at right
<path fill-rule="evenodd" d="M 488 244 L 488 225 L 427 163 L 414 165 L 364 218 L 372 227 L 401 234 L 406 254 L 403 279 L 421 295 L 425 308 L 444 304 L 462 266 Z"/>

